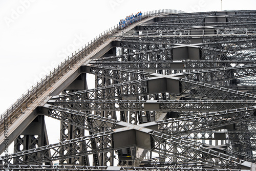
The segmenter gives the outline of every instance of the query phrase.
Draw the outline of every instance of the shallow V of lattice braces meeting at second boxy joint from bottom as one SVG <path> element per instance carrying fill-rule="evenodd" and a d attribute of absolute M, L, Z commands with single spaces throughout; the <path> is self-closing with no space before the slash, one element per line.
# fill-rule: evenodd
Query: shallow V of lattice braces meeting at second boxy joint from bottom
<path fill-rule="evenodd" d="M 160 69 L 162 68 L 162 66 L 158 67 L 158 65 L 162 65 L 162 64 L 166 65 L 167 62 L 161 61 L 160 63 L 158 63 L 158 65 L 157 65 L 157 62 L 154 62 L 154 63 L 151 62 L 151 63 L 155 66 L 155 69 Z M 172 70 L 170 65 L 165 67 L 166 69 Z M 245 77 L 247 79 L 249 77 L 252 77 L 253 79 L 255 67 L 256 67 L 255 65 L 248 65 L 248 66 L 244 65 L 244 66 L 227 67 L 227 68 L 220 68 L 220 69 L 209 69 L 209 70 L 205 69 L 205 70 L 200 70 L 196 72 L 195 71 L 182 72 L 182 74 L 180 74 L 179 76 L 184 76 L 185 78 L 191 79 L 191 80 L 201 80 L 204 82 L 211 82 L 211 83 L 213 81 L 216 83 L 216 82 L 227 81 L 232 79 L 240 79 L 240 78 L 245 79 Z M 109 72 L 106 72 L 106 70 L 108 70 Z M 141 71 L 134 72 L 133 70 L 120 69 L 118 67 L 116 67 L 115 69 L 114 67 L 108 67 L 108 66 L 102 67 L 97 65 L 90 66 L 90 73 L 93 73 L 97 76 L 103 76 L 110 79 L 112 78 L 114 80 L 119 80 L 119 81 L 127 81 L 129 79 L 136 80 L 142 74 L 147 75 L 147 77 L 150 76 L 150 73 L 148 72 L 141 72 Z M 207 77 L 207 75 L 211 75 L 211 76 Z M 178 74 L 176 74 L 176 76 L 178 76 Z"/>

